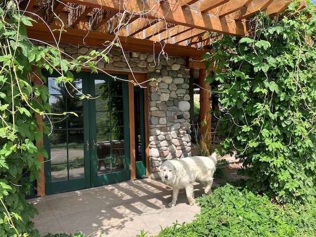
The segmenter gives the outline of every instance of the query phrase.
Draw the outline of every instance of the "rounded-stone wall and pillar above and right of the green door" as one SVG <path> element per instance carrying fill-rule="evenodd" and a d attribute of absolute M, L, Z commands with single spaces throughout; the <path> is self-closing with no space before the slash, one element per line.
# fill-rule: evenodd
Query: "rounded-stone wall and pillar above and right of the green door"
<path fill-rule="evenodd" d="M 77 58 L 89 55 L 92 50 L 103 48 L 81 45 L 60 44 L 62 51 Z M 191 155 L 190 130 L 190 70 L 186 60 L 170 57 L 168 60 L 149 53 L 139 53 L 112 49 L 107 56 L 110 63 L 100 60 L 100 69 L 147 73 L 149 82 L 149 148 L 151 178 L 158 179 L 158 167 L 162 161 Z M 67 56 L 65 56 L 67 58 Z M 155 61 L 154 61 L 155 58 Z"/>

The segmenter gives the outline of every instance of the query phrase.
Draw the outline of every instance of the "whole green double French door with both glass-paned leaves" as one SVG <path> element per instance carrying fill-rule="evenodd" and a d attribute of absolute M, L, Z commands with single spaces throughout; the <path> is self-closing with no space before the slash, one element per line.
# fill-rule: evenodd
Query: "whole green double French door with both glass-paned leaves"
<path fill-rule="evenodd" d="M 74 73 L 71 85 L 43 75 L 51 94 L 51 132 L 44 139 L 45 193 L 130 179 L 127 82 L 106 74 Z M 127 79 L 125 75 L 115 75 Z M 81 93 L 93 99 L 80 100 Z M 63 112 L 74 112 L 60 116 Z"/>

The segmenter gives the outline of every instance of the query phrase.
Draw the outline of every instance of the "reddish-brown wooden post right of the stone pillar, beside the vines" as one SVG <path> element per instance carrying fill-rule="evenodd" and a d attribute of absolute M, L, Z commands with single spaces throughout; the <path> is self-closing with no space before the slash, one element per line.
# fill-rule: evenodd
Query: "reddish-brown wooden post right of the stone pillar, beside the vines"
<path fill-rule="evenodd" d="M 198 84 L 199 89 L 199 120 L 200 120 L 200 150 L 209 153 L 208 147 L 211 144 L 211 115 L 208 113 L 211 110 L 210 102 L 210 85 L 205 84 L 205 78 L 207 77 L 205 69 L 199 70 Z M 205 124 L 206 122 L 206 124 Z M 203 154 L 210 155 L 210 154 Z"/>

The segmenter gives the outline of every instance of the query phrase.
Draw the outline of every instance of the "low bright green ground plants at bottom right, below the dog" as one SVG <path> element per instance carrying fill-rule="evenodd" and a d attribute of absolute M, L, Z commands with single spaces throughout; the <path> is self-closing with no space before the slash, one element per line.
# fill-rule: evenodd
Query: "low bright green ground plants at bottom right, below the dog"
<path fill-rule="evenodd" d="M 201 213 L 192 223 L 161 229 L 158 237 L 312 237 L 316 199 L 305 205 L 272 203 L 267 196 L 227 184 L 197 199 Z"/>

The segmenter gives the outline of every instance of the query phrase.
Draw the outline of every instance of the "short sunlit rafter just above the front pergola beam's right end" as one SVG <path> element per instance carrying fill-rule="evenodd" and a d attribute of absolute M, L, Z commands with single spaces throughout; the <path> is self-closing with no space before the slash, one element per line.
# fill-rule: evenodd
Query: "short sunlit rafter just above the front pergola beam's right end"
<path fill-rule="evenodd" d="M 247 7 L 230 14 L 229 16 L 237 21 L 246 19 L 257 12 L 265 10 L 274 0 L 253 0 Z"/>

